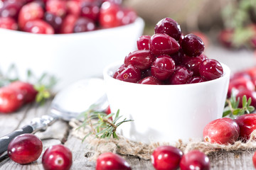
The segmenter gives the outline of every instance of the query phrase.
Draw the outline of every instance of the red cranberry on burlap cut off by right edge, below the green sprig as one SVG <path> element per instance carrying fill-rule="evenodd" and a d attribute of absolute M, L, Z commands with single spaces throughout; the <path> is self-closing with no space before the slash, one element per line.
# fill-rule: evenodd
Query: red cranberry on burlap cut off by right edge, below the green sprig
<path fill-rule="evenodd" d="M 256 114 L 245 114 L 235 118 L 235 122 L 238 123 L 240 128 L 240 140 L 246 142 L 250 139 L 250 135 L 253 130 L 256 130 Z"/>

